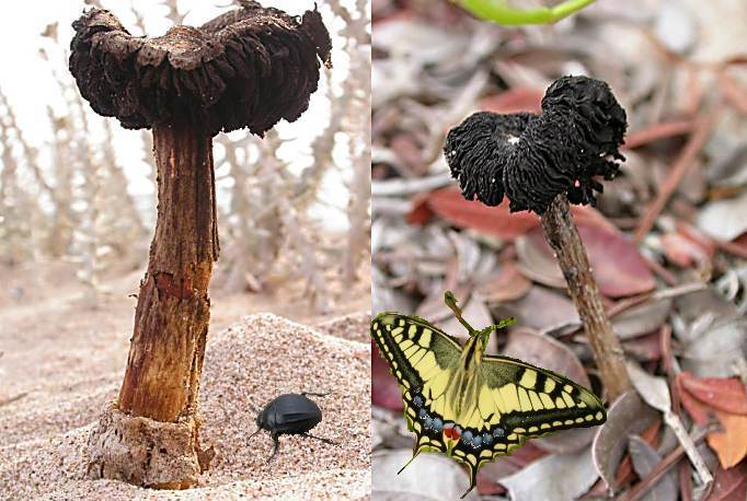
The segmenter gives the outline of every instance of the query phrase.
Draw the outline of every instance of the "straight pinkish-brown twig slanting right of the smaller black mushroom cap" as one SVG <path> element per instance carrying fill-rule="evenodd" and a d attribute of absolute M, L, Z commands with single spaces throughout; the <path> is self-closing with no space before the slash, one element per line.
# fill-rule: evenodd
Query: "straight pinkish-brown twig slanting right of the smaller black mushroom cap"
<path fill-rule="evenodd" d="M 694 162 L 696 156 L 698 156 L 698 153 L 700 153 L 703 144 L 705 144 L 705 141 L 711 136 L 711 132 L 721 116 L 721 112 L 722 105 L 719 104 L 705 118 L 698 121 L 693 135 L 690 137 L 690 140 L 685 145 L 685 149 L 675 162 L 675 165 L 671 167 L 667 179 L 662 185 L 662 189 L 659 189 L 658 195 L 648 206 L 643 218 L 641 218 L 641 222 L 633 235 L 633 241 L 636 244 L 640 244 L 643 241 L 643 237 L 646 236 L 654 226 L 656 218 L 658 218 L 659 213 L 667 205 L 667 201 L 690 170 L 690 166 Z"/>

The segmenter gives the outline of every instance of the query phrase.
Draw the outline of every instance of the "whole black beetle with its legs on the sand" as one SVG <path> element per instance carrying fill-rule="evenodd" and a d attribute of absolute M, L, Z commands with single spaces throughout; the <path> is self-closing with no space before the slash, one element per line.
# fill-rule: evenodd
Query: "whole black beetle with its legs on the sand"
<path fill-rule="evenodd" d="M 272 400 L 258 415 L 256 415 L 257 430 L 249 435 L 249 438 L 251 439 L 262 430 L 267 430 L 269 432 L 269 436 L 273 438 L 275 447 L 273 448 L 273 454 L 267 459 L 267 463 L 273 461 L 273 457 L 277 454 L 277 450 L 280 446 L 278 440 L 279 435 L 301 435 L 309 439 L 321 440 L 331 445 L 336 445 L 335 442 L 330 439 L 314 436 L 309 433 L 309 430 L 319 424 L 322 420 L 322 410 L 313 400 L 307 398 L 307 395 L 323 397 L 329 394 L 304 392 L 299 395 L 296 393 L 287 393 Z"/>

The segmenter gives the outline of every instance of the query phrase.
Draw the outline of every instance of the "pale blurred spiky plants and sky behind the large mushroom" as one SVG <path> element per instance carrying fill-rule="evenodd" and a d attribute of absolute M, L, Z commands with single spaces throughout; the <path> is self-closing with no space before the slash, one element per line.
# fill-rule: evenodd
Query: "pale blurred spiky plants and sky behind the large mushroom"
<path fill-rule="evenodd" d="M 150 131 L 125 131 L 81 101 L 67 71 L 69 24 L 85 7 L 108 8 L 133 34 L 158 36 L 233 5 L 67 3 L 71 16 L 46 27 L 49 12 L 27 12 L 39 20 L 36 57 L 46 68 L 42 89 L 51 92 L 39 93 L 33 81 L 19 91 L 15 82 L 11 97 L 3 80 L 12 88 L 10 78 L 24 69 L 0 75 L 0 294 L 31 299 L 42 283 L 30 280 L 54 266 L 53 281 L 74 273 L 84 305 L 95 308 L 112 290 L 107 281 L 145 267 L 156 176 Z M 287 9 L 313 8 L 298 3 Z M 370 5 L 325 0 L 320 11 L 333 37 L 334 69 L 324 70 L 310 109 L 264 139 L 244 131 L 215 138 L 222 252 L 212 289 L 273 293 L 292 287 L 324 313 L 342 295 L 335 283 L 368 289 Z M 28 59 L 30 67 L 38 62 Z"/>

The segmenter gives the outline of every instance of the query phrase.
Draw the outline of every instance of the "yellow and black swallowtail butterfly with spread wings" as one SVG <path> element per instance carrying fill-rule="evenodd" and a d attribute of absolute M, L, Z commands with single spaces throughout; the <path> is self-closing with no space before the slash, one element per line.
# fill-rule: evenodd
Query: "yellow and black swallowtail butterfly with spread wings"
<path fill-rule="evenodd" d="M 471 480 L 464 496 L 483 465 L 510 454 L 528 438 L 606 420 L 599 398 L 583 386 L 517 359 L 486 354 L 491 333 L 506 325 L 469 327 L 470 339 L 462 346 L 416 316 L 384 312 L 371 323 L 371 336 L 398 380 L 407 427 L 416 436 L 413 459 L 430 451 L 463 464 Z"/>

